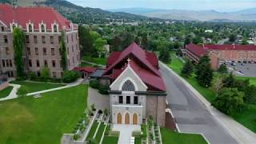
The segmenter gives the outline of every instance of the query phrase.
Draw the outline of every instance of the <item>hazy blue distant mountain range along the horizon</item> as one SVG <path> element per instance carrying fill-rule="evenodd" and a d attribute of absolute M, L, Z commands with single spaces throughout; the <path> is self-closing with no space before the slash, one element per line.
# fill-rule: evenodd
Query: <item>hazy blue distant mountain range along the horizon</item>
<path fill-rule="evenodd" d="M 196 20 L 196 21 L 256 21 L 256 8 L 234 12 L 218 12 L 216 10 L 161 10 L 147 8 L 126 8 L 110 10 L 140 14 L 152 18 Z"/>

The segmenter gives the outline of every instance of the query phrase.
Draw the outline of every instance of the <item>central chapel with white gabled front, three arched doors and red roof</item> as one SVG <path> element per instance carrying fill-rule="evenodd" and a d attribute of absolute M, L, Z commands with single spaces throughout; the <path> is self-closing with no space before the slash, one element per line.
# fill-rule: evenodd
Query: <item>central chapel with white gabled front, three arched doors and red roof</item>
<path fill-rule="evenodd" d="M 156 54 L 136 43 L 110 54 L 101 78 L 110 84 L 113 124 L 140 125 L 151 115 L 165 126 L 166 86 L 158 69 Z"/>

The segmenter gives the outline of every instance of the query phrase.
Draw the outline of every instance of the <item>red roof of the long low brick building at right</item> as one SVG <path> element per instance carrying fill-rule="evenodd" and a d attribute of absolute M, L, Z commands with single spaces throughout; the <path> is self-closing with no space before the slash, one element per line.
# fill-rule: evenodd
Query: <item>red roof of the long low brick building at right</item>
<path fill-rule="evenodd" d="M 190 50 L 191 53 L 201 57 L 206 54 L 207 50 L 256 50 L 254 45 L 195 45 L 190 43 L 186 46 L 186 50 Z"/>

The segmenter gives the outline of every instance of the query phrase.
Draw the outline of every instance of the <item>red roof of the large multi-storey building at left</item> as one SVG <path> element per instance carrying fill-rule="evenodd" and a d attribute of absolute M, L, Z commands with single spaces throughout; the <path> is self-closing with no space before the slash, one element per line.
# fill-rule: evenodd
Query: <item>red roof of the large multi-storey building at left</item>
<path fill-rule="evenodd" d="M 58 23 L 59 30 L 62 26 L 70 29 L 70 21 L 50 7 L 17 7 L 2 4 L 0 5 L 0 20 L 10 26 L 11 22 L 17 22 L 19 26 L 26 29 L 26 23 L 34 23 L 34 30 L 38 30 L 38 24 L 46 23 L 46 30 L 51 30 L 51 24 Z M 76 26 L 74 26 L 76 27 Z"/>

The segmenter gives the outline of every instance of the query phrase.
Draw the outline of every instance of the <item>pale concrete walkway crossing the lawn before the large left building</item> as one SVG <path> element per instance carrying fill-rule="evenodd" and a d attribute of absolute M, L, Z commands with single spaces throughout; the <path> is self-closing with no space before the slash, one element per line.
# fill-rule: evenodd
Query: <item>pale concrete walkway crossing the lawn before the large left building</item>
<path fill-rule="evenodd" d="M 61 87 L 57 87 L 57 88 L 49 89 L 49 90 L 36 91 L 36 92 L 34 92 L 34 93 L 29 93 L 29 94 L 26 94 L 26 95 L 27 95 L 27 96 L 31 96 L 31 95 L 36 95 L 36 94 L 47 93 L 47 92 L 54 91 L 54 90 L 62 90 L 62 89 L 66 89 L 66 88 L 69 88 L 69 87 L 78 86 L 78 85 L 80 85 L 82 82 L 83 82 L 83 79 L 80 78 L 80 79 L 78 79 L 77 82 L 69 83 L 69 84 L 67 84 L 66 86 L 61 86 Z M 18 88 L 19 88 L 21 85 L 10 84 L 10 86 L 14 86 L 14 89 L 10 92 L 10 94 L 9 94 L 8 97 L 6 97 L 6 98 L 0 98 L 0 101 L 6 101 L 6 100 L 18 98 L 18 95 L 17 95 L 16 93 L 17 93 Z"/>

